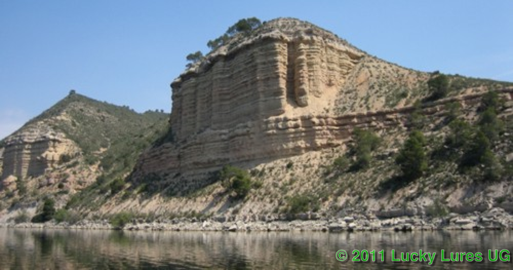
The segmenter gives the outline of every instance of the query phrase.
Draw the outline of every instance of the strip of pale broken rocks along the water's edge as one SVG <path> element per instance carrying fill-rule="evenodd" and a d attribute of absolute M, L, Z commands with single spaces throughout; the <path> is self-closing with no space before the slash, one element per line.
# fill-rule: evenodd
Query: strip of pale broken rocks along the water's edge
<path fill-rule="evenodd" d="M 82 220 L 75 224 L 55 223 L 0 223 L 7 228 L 53 229 L 122 229 L 148 231 L 228 231 L 228 232 L 359 232 L 411 230 L 508 230 L 513 229 L 513 215 L 502 208 L 468 214 L 451 213 L 445 217 L 429 218 L 404 216 L 380 219 L 372 214 L 354 214 L 345 217 L 297 216 L 307 220 L 285 220 L 284 216 L 266 216 L 265 220 L 239 220 L 238 217 L 175 218 L 144 220 L 132 219 L 123 227 L 114 227 L 108 220 Z M 264 217 L 262 217 L 264 218 Z M 313 219 L 311 219 L 313 218 Z"/>

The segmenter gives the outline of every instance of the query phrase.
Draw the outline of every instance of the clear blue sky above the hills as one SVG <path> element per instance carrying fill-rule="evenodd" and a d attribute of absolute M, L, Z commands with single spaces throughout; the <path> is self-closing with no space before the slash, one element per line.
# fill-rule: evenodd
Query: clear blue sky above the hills
<path fill-rule="evenodd" d="M 70 89 L 169 111 L 185 55 L 251 16 L 310 21 L 418 70 L 513 81 L 510 0 L 0 0 L 0 138 Z"/>

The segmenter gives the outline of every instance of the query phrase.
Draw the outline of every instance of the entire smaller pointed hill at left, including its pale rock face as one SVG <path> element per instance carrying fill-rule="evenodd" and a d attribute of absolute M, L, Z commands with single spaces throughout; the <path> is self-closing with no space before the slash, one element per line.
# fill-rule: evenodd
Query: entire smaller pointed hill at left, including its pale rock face
<path fill-rule="evenodd" d="M 71 91 L 2 140 L 2 210 L 48 195 L 65 204 L 98 177 L 126 176 L 141 151 L 167 132 L 168 117 Z"/>

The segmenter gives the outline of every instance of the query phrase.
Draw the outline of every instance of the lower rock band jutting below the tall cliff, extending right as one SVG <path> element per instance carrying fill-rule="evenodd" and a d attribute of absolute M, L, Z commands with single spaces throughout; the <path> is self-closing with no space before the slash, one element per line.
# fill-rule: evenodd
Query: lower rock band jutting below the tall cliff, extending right
<path fill-rule="evenodd" d="M 513 89 L 499 92 L 511 100 Z M 476 106 L 480 99 L 481 94 L 449 98 L 425 105 L 421 112 L 443 117 L 447 113 L 445 109 L 448 103 L 456 101 L 464 107 Z M 207 172 L 225 164 L 265 162 L 266 159 L 340 146 L 350 139 L 352 130 L 357 127 L 371 128 L 378 132 L 388 128 L 406 128 L 413 110 L 415 107 L 409 106 L 341 116 L 279 115 L 239 123 L 231 128 L 207 129 L 190 134 L 180 143 L 164 144 L 145 152 L 137 165 L 135 176 L 141 178 L 148 173 L 157 173 L 168 176 L 167 180 L 179 189 L 195 188 L 204 184 L 209 176 Z"/>

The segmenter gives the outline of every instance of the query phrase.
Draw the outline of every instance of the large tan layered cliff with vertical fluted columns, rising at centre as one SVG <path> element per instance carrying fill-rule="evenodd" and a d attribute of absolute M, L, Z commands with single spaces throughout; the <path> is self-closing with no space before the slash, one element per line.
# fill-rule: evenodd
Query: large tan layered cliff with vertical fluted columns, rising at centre
<path fill-rule="evenodd" d="M 403 72 L 403 81 L 415 82 L 410 88 L 419 81 L 410 73 L 428 78 L 391 69 L 336 35 L 295 19 L 273 20 L 249 35 L 236 35 L 172 82 L 174 141 L 144 153 L 134 177 L 180 173 L 190 180 L 192 170 L 198 177 L 229 163 L 340 145 L 347 138 L 340 126 L 351 117 L 332 117 L 340 114 L 340 103 L 346 103 L 344 112 L 369 110 L 349 104 L 345 92 L 372 94 L 365 64 L 373 61 L 385 66 L 374 73 Z M 373 110 L 386 107 L 384 96 L 376 99 Z"/>

